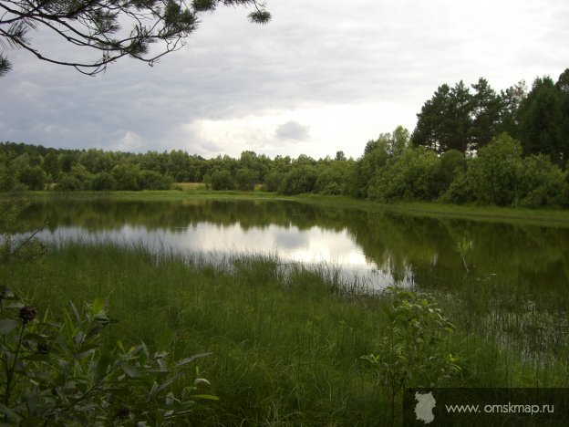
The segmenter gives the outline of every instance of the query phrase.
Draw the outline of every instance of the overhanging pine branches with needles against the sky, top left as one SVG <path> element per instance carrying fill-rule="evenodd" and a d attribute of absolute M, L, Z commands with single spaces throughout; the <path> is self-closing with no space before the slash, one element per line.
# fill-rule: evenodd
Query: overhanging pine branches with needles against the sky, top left
<path fill-rule="evenodd" d="M 23 48 L 38 59 L 96 75 L 121 57 L 153 65 L 180 49 L 200 16 L 218 5 L 252 6 L 249 19 L 266 24 L 271 14 L 259 0 L 3 0 L 0 46 Z M 33 31 L 57 36 L 78 47 L 73 58 L 60 57 L 36 44 Z M 160 43 L 160 47 L 151 48 Z M 85 59 L 85 52 L 94 59 Z M 0 53 L 0 77 L 12 64 Z"/>

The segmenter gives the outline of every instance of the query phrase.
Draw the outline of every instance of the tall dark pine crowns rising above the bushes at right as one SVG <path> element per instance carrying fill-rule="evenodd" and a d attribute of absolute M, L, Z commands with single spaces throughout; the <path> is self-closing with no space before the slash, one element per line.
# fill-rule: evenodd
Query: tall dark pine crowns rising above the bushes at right
<path fill-rule="evenodd" d="M 473 89 L 473 91 L 471 91 Z M 527 92 L 521 81 L 500 93 L 480 78 L 441 85 L 417 114 L 411 141 L 443 153 L 475 153 L 502 132 L 521 141 L 524 155 L 544 154 L 564 168 L 569 161 L 569 68 L 557 82 L 536 78 Z"/>

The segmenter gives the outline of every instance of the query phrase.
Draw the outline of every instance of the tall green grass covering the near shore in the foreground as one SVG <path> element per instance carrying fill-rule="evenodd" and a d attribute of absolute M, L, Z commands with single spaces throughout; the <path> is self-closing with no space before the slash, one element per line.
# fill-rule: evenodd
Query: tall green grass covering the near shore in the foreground
<path fill-rule="evenodd" d="M 109 328 L 109 346 L 117 339 L 154 345 L 175 331 L 179 357 L 212 351 L 202 375 L 221 400 L 196 412 L 196 425 L 390 425 L 387 391 L 360 359 L 377 352 L 390 332 L 389 301 L 346 292 L 324 270 L 285 272 L 275 257 L 211 264 L 140 246 L 79 242 L 0 264 L 0 281 L 40 313 L 60 313 L 70 299 L 105 297 L 119 318 Z M 469 298 L 489 297 L 481 292 L 437 296 L 457 326 L 448 350 L 463 366 L 445 384 L 567 386 L 560 361 L 566 354 L 530 359 L 489 339 L 487 325 L 472 318 L 477 307 Z M 471 313 L 462 311 L 465 304 Z M 497 321 L 509 316 L 501 309 L 492 313 Z"/>

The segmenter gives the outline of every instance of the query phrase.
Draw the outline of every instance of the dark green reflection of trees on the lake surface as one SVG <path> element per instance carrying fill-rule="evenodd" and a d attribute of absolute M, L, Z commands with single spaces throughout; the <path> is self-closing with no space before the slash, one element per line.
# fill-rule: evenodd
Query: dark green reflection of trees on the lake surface
<path fill-rule="evenodd" d="M 32 204 L 22 213 L 26 230 L 47 223 L 50 230 L 74 225 L 89 230 L 119 229 L 125 224 L 149 230 L 181 228 L 207 222 L 240 224 L 244 230 L 271 224 L 301 230 L 319 226 L 347 230 L 367 259 L 394 276 L 411 270 L 421 286 L 444 286 L 465 275 L 459 242 L 471 276 L 498 274 L 503 283 L 532 289 L 566 286 L 569 277 L 569 230 L 518 224 L 436 219 L 396 213 L 331 209 L 294 202 L 196 201 L 128 202 L 96 199 Z M 566 289 L 565 289 L 566 291 Z"/>

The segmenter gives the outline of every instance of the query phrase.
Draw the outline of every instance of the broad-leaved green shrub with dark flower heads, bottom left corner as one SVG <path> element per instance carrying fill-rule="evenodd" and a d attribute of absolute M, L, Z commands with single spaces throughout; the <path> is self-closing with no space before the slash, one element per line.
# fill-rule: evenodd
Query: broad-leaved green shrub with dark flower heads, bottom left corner
<path fill-rule="evenodd" d="M 73 304 L 61 324 L 37 319 L 35 307 L 16 302 L 0 288 L 0 412 L 18 425 L 176 425 L 193 411 L 195 361 L 206 353 L 175 360 L 173 335 L 151 353 L 144 344 L 106 349 L 102 331 L 112 320 L 105 303 L 78 310 Z"/>

